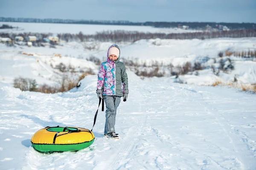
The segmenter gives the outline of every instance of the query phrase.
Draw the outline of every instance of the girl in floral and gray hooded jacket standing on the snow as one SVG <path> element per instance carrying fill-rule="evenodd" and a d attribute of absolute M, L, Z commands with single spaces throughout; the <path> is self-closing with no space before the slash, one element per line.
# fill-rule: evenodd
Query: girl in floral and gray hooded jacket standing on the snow
<path fill-rule="evenodd" d="M 129 93 L 125 64 L 119 59 L 118 45 L 111 45 L 108 48 L 107 61 L 102 62 L 100 66 L 96 90 L 99 99 L 104 97 L 107 108 L 104 135 L 114 139 L 119 138 L 115 131 L 116 109 L 120 104 L 121 96 L 125 102 Z"/>

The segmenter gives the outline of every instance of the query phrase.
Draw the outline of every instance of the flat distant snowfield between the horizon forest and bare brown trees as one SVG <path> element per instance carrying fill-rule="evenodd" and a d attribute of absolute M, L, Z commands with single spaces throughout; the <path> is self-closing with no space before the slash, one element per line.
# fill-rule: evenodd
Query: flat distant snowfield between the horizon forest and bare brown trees
<path fill-rule="evenodd" d="M 86 25 L 86 24 L 55 24 L 55 23 L 15 23 L 15 22 L 0 22 L 0 25 L 7 24 L 12 27 L 19 27 L 13 29 L 1 29 L 1 32 L 13 33 L 70 33 L 78 34 L 82 31 L 83 34 L 96 34 L 102 31 L 139 31 L 150 33 L 185 33 L 198 32 L 198 30 L 184 30 L 181 28 L 154 28 L 151 26 L 113 26 L 113 25 Z"/>

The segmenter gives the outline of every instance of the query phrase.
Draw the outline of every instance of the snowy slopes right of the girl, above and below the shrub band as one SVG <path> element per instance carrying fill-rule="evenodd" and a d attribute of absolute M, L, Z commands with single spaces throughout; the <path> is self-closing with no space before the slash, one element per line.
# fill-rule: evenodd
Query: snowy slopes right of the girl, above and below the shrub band
<path fill-rule="evenodd" d="M 256 38 L 218 38 L 208 40 L 139 40 L 131 45 L 124 45 L 121 48 L 121 60 L 132 60 L 137 64 L 152 66 L 172 64 L 174 67 L 182 66 L 186 62 L 203 63 L 208 70 L 198 71 L 198 76 L 185 75 L 180 79 L 188 84 L 211 85 L 220 79 L 223 82 L 231 82 L 236 77 L 241 83 L 256 83 L 256 62 L 244 61 L 237 57 L 230 57 L 235 67 L 229 74 L 221 72 L 219 77 L 215 76 L 210 67 L 218 67 L 219 52 L 224 51 L 256 51 Z M 93 54 L 100 59 L 105 56 L 105 50 L 99 54 Z M 227 57 L 223 57 L 227 59 Z M 204 61 L 209 60 L 209 61 Z M 215 63 L 216 60 L 218 63 Z M 255 59 L 254 59 L 255 60 Z"/>

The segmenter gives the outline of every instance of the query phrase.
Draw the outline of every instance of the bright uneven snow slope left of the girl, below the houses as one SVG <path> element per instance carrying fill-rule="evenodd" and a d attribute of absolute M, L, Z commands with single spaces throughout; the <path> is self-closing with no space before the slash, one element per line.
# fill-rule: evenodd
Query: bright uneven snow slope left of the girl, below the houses
<path fill-rule="evenodd" d="M 98 71 L 98 66 L 93 62 L 75 57 L 59 57 L 44 52 L 45 48 L 39 48 L 41 52 L 31 52 L 29 49 L 6 48 L 0 44 L 0 82 L 12 84 L 18 77 L 35 79 L 38 84 L 56 84 L 61 81 L 63 73 L 54 69 L 56 65 L 63 63 L 67 68 L 70 66 L 77 71 L 73 77 L 79 77 L 82 71 L 91 69 Z"/>

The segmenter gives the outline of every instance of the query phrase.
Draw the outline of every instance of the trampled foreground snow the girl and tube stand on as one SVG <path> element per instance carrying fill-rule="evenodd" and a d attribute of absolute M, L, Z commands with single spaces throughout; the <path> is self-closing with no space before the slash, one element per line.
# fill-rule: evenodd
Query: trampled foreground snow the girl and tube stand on
<path fill-rule="evenodd" d="M 120 139 L 104 137 L 99 112 L 95 142 L 78 152 L 41 154 L 30 144 L 46 126 L 90 129 L 98 106 L 97 77 L 58 94 L 0 83 L 0 167 L 24 170 L 256 169 L 255 95 L 227 87 L 141 80 L 128 71 L 127 102 L 116 115 Z"/>

